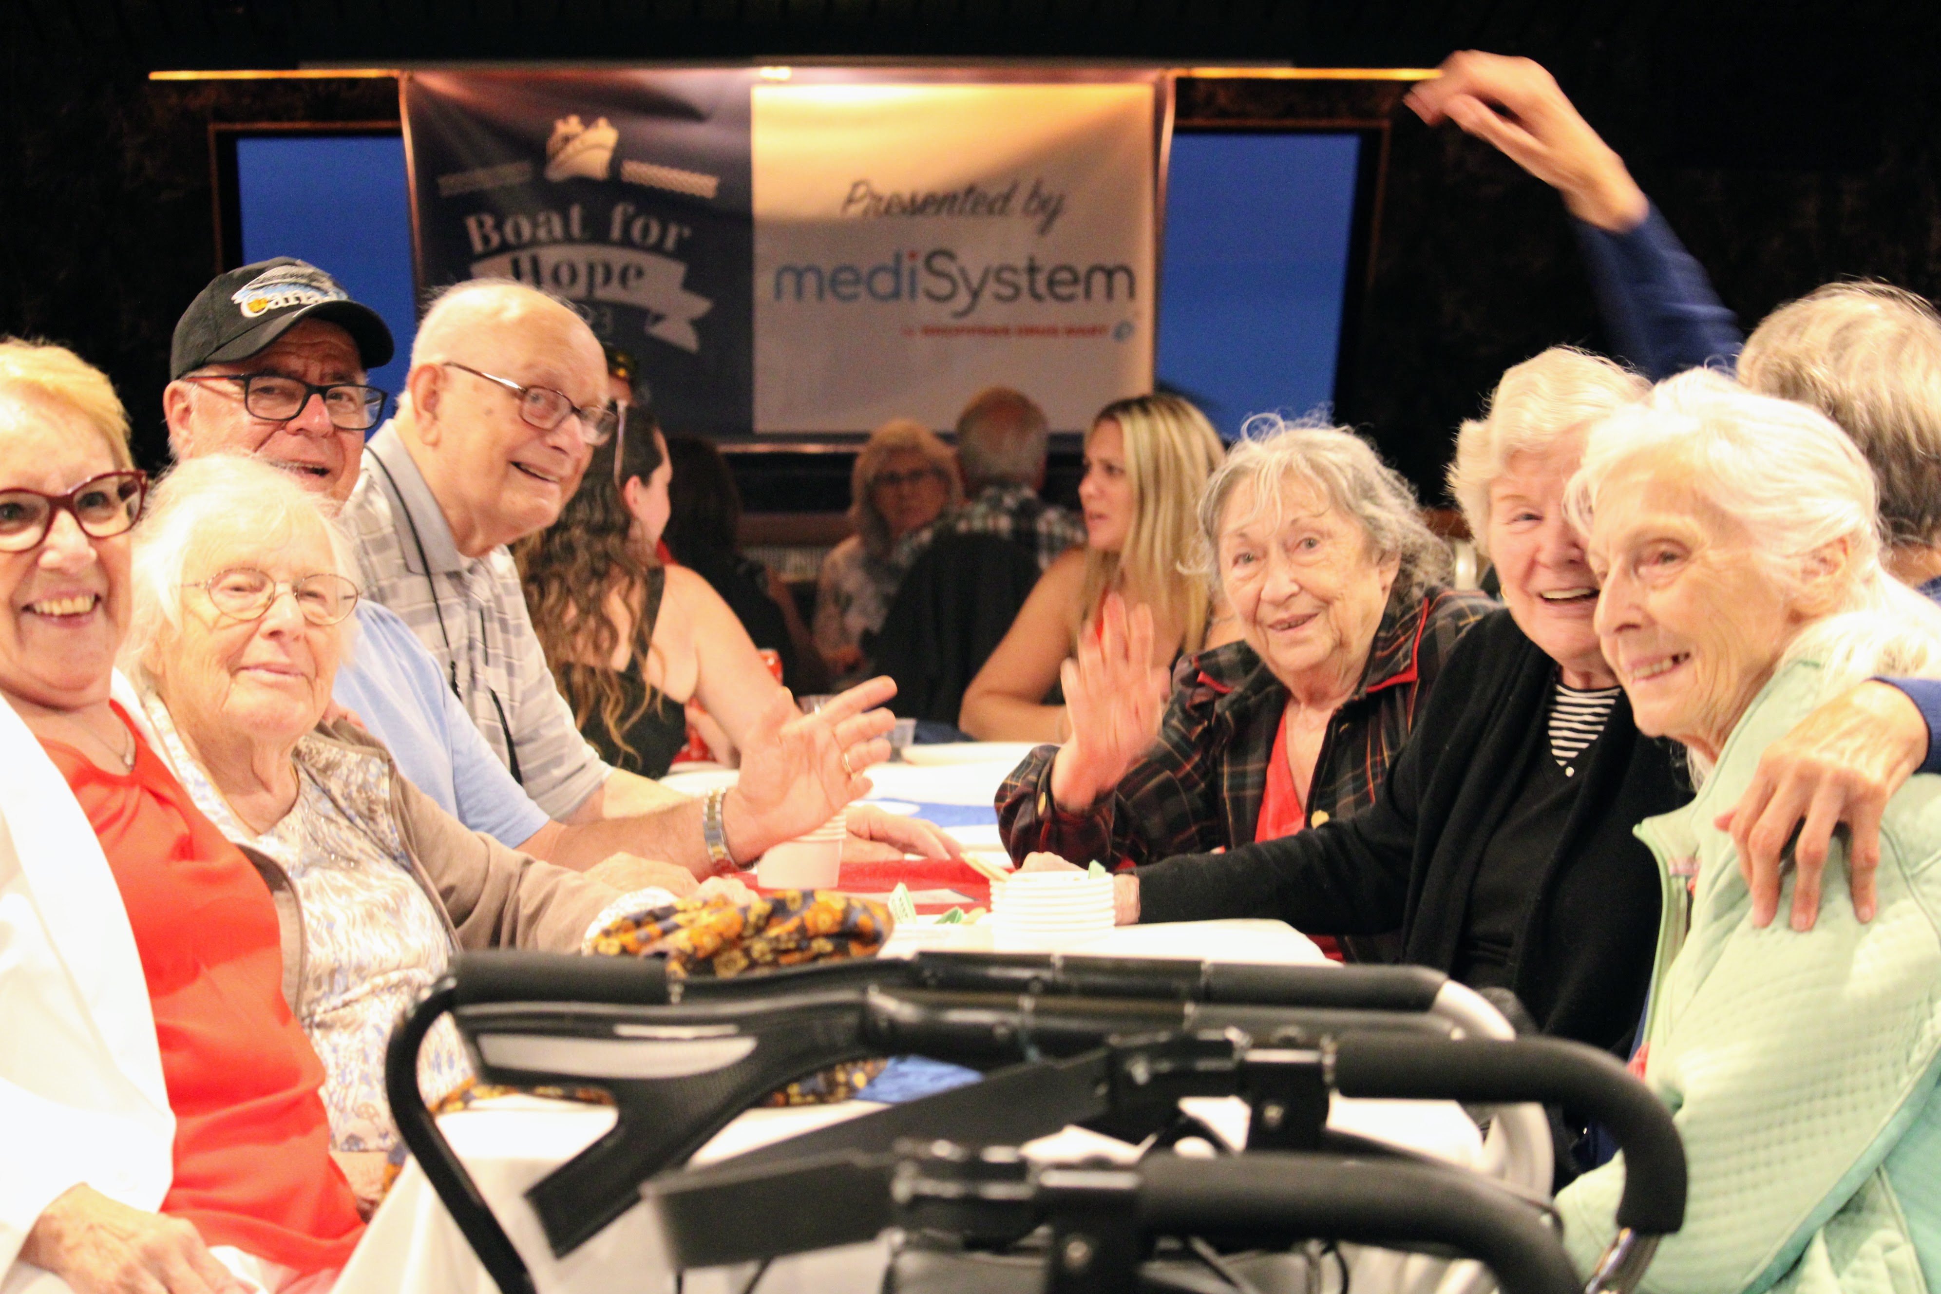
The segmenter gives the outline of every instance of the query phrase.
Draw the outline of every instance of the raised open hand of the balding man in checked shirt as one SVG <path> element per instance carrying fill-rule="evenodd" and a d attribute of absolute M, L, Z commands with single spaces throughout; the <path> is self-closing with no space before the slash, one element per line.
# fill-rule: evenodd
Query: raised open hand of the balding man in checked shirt
<path fill-rule="evenodd" d="M 870 793 L 864 768 L 889 759 L 885 733 L 897 716 L 879 710 L 897 695 L 893 679 L 870 679 L 800 714 L 776 693 L 741 751 L 741 778 L 722 801 L 728 852 L 747 863 L 771 844 L 815 830 L 848 801 Z"/>

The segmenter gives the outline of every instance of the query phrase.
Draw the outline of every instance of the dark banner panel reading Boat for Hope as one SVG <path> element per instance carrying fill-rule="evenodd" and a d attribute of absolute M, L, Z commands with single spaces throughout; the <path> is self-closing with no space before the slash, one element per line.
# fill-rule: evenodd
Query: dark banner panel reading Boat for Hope
<path fill-rule="evenodd" d="M 751 427 L 753 70 L 402 78 L 419 289 L 510 277 L 633 353 L 668 429 Z"/>

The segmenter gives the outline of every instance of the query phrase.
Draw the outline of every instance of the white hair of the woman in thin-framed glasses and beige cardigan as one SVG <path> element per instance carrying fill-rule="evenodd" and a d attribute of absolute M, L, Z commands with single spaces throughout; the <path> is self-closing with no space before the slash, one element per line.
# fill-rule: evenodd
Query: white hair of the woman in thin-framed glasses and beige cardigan
<path fill-rule="evenodd" d="M 357 555 L 344 528 L 324 510 L 324 499 L 297 485 L 289 473 L 247 454 L 204 454 L 179 464 L 148 493 L 142 522 L 134 528 L 132 609 L 120 646 L 120 667 L 138 687 L 155 687 L 149 662 L 182 627 L 182 572 L 202 547 L 202 534 L 217 518 L 245 520 L 264 543 L 280 530 L 314 520 L 330 537 L 330 574 L 357 582 Z M 357 619 L 330 627 L 344 658 L 351 652 Z"/>

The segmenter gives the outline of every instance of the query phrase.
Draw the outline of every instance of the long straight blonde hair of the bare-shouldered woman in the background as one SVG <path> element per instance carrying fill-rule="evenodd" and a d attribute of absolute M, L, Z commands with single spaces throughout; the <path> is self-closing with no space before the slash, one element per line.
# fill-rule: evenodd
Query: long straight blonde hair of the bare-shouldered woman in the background
<path fill-rule="evenodd" d="M 1198 502 L 1225 446 L 1205 413 L 1167 392 L 1114 400 L 1099 409 L 1085 444 L 1101 423 L 1118 423 L 1132 483 L 1132 526 L 1118 553 L 1085 547 L 1085 584 L 1071 621 L 1073 644 L 1108 590 L 1153 609 L 1159 625 L 1180 625 L 1182 652 L 1198 652 L 1207 631 L 1207 586 L 1182 578 L 1198 543 Z"/>

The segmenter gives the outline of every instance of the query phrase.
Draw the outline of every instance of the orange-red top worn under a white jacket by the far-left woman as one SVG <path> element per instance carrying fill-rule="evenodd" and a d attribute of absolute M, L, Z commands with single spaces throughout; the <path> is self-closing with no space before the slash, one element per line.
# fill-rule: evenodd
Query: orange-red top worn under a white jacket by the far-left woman
<path fill-rule="evenodd" d="M 140 737 L 128 774 L 41 745 L 101 838 L 142 954 L 175 1112 L 161 1213 L 212 1245 L 305 1273 L 342 1267 L 363 1222 L 330 1158 L 324 1065 L 283 1001 L 262 877 Z"/>

